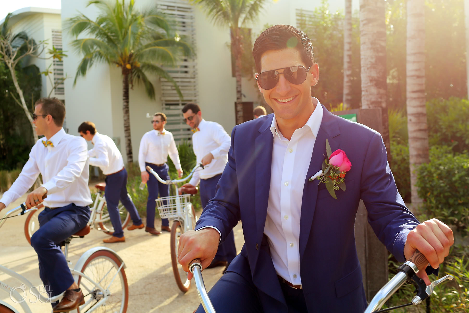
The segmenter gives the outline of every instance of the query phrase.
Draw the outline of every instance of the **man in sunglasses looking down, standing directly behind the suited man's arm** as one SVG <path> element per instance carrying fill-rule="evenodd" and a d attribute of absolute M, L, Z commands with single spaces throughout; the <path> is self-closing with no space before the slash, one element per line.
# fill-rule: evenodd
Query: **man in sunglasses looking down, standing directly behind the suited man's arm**
<path fill-rule="evenodd" d="M 200 201 L 205 208 L 215 196 L 217 183 L 228 161 L 230 137 L 217 122 L 207 122 L 202 118 L 202 111 L 195 103 L 188 103 L 182 108 L 184 122 L 192 128 L 192 148 L 197 157 L 197 164 L 207 165 L 202 172 L 196 171 L 189 183 L 182 187 L 194 188 L 200 182 Z M 220 244 L 215 258 L 207 268 L 227 266 L 236 256 L 233 231 L 229 232 L 224 243 Z"/>

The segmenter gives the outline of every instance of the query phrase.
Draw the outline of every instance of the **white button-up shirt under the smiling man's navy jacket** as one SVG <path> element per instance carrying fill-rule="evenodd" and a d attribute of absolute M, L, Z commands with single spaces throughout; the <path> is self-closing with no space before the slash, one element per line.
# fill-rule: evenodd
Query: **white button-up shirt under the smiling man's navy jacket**
<path fill-rule="evenodd" d="M 323 109 L 318 99 L 308 122 L 290 140 L 272 120 L 272 169 L 264 233 L 268 237 L 273 266 L 283 279 L 301 285 L 300 218 L 303 187 L 310 166 Z"/>

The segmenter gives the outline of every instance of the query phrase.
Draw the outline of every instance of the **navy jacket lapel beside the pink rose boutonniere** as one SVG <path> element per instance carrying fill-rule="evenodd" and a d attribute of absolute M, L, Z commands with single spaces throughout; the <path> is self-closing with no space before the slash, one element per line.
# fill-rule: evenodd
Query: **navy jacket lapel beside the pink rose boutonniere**
<path fill-rule="evenodd" d="M 316 210 L 316 200 L 318 197 L 319 180 L 310 182 L 309 179 L 322 169 L 322 163 L 324 161 L 324 156 L 326 155 L 325 140 L 328 139 L 332 151 L 339 148 L 339 143 L 333 139 L 340 134 L 339 126 L 337 125 L 334 117 L 335 116 L 327 111 L 323 106 L 323 118 L 318 131 L 318 137 L 316 137 L 316 141 L 314 143 L 310 167 L 308 168 L 303 187 L 300 220 L 300 262 L 303 259 L 306 244 L 308 243 L 308 238 L 310 236 L 314 211 Z M 331 197 L 331 199 L 333 198 Z"/>

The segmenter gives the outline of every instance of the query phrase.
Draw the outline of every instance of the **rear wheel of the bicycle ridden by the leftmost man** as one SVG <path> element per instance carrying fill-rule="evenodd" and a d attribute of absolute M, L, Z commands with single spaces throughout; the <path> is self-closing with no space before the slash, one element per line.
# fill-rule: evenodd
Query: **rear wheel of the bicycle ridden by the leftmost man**
<path fill-rule="evenodd" d="M 93 282 L 98 283 L 106 291 L 96 288 L 93 282 L 83 276 L 78 277 L 78 287 L 83 291 L 85 304 L 80 305 L 78 313 L 87 312 L 99 300 L 107 296 L 106 302 L 97 307 L 93 312 L 126 313 L 129 301 L 129 286 L 127 285 L 127 276 L 121 261 L 107 250 L 99 250 L 83 264 L 81 272 L 90 277 Z M 94 307 L 93 307 L 94 308 Z"/>

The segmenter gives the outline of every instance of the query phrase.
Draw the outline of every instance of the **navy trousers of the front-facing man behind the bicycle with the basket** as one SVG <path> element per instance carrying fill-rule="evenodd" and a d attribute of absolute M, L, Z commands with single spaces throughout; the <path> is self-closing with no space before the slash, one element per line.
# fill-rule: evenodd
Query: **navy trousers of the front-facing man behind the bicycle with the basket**
<path fill-rule="evenodd" d="M 145 163 L 150 166 L 158 176 L 163 180 L 168 180 L 168 169 L 169 166 L 165 163 L 163 166 L 156 166 L 155 164 Z M 160 183 L 153 174 L 150 172 L 150 179 L 147 182 L 148 188 L 148 201 L 147 201 L 147 227 L 155 228 L 155 209 L 156 209 L 156 198 L 158 194 L 160 197 L 167 197 L 169 195 L 169 185 Z M 168 219 L 161 219 L 161 226 L 169 226 Z"/>

